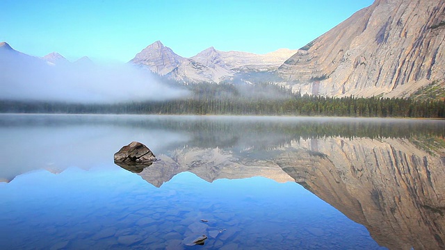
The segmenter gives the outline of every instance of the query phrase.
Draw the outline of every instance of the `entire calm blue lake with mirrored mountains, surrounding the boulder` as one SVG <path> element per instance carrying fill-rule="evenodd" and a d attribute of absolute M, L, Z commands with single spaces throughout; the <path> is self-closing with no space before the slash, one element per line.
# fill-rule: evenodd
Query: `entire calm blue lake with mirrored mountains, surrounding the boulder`
<path fill-rule="evenodd" d="M 426 119 L 0 115 L 0 249 L 444 249 L 444 136 Z M 132 141 L 159 160 L 115 165 Z"/>

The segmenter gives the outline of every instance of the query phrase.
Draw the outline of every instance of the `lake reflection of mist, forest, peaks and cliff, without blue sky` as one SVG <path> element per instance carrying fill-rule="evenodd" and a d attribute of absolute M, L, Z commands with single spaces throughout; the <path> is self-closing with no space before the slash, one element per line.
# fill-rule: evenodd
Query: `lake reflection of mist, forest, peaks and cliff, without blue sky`
<path fill-rule="evenodd" d="M 443 249 L 444 125 L 399 119 L 3 115 L 0 133 L 12 145 L 3 152 L 13 155 L 25 147 L 34 164 L 6 159 L 0 178 L 11 181 L 51 166 L 57 172 L 73 165 L 88 169 L 139 140 L 160 161 L 132 172 L 155 187 L 181 172 L 208 182 L 253 176 L 295 181 L 366 226 L 380 246 Z M 25 138 L 33 145 L 25 145 Z M 63 153 L 66 145 L 69 156 Z M 58 155 L 63 158 L 52 157 Z"/>

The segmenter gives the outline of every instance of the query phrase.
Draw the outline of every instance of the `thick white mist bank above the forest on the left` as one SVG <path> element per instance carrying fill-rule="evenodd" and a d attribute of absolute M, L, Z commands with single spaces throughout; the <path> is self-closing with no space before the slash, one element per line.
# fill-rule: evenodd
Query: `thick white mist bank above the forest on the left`
<path fill-rule="evenodd" d="M 0 53 L 0 99 L 118 103 L 162 101 L 187 94 L 156 80 L 147 70 L 92 62 L 51 65 L 17 51 Z"/>

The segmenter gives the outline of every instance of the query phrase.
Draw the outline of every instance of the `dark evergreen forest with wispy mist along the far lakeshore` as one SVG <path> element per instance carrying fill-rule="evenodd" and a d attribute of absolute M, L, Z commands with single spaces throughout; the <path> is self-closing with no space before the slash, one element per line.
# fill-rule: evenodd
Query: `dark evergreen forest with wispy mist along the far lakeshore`
<path fill-rule="evenodd" d="M 444 118 L 445 101 L 403 98 L 321 97 L 269 83 L 181 85 L 181 99 L 112 104 L 0 101 L 0 113 L 290 115 Z"/>

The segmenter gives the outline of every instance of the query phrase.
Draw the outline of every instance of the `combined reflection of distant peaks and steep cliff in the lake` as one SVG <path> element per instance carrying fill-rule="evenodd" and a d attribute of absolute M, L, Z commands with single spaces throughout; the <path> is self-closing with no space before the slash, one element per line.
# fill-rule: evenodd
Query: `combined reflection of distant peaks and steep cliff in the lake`
<path fill-rule="evenodd" d="M 187 147 L 161 156 L 160 162 L 139 175 L 156 187 L 179 172 L 193 172 L 209 182 L 249 176 L 284 182 L 291 177 L 366 226 L 382 246 L 442 249 L 444 154 L 423 151 L 413 140 L 300 140 L 263 152 L 260 160 L 258 151 L 252 155 L 248 151 Z"/>

